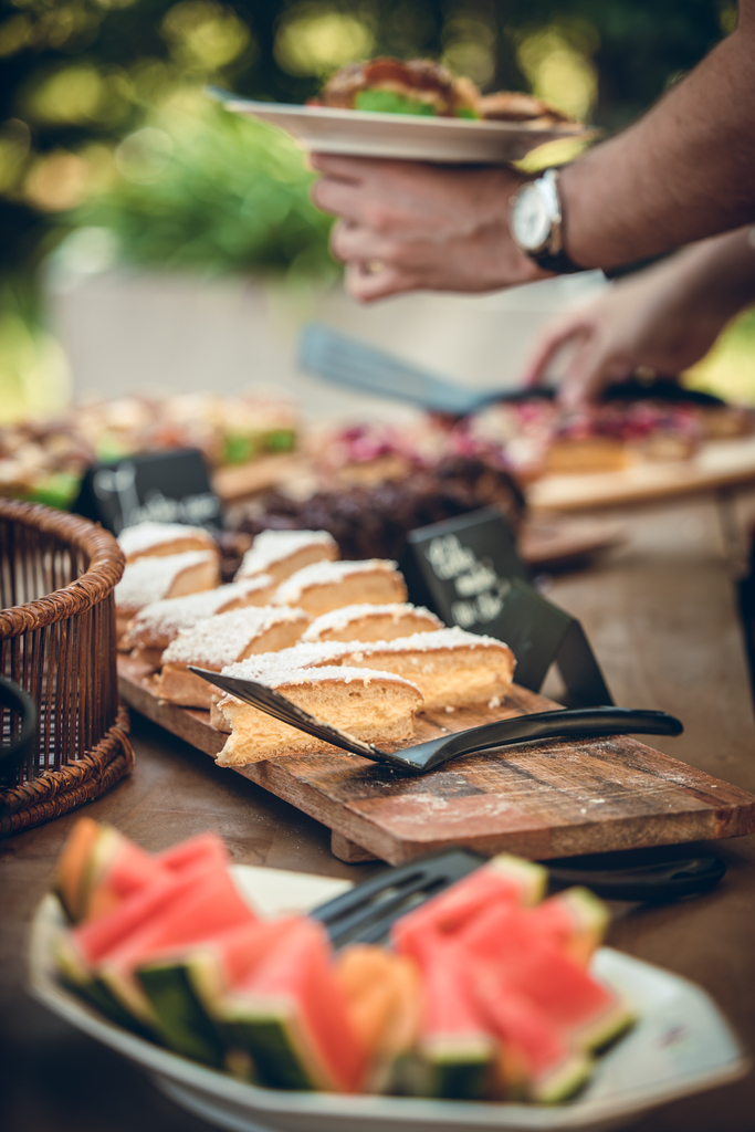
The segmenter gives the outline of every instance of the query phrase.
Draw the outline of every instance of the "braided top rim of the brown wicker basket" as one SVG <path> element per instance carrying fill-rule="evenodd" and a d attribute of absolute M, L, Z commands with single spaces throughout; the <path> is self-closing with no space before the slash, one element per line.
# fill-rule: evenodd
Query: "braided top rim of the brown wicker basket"
<path fill-rule="evenodd" d="M 76 581 L 52 593 L 0 610 L 0 640 L 53 625 L 91 609 L 112 593 L 123 574 L 126 559 L 114 535 L 98 523 L 69 515 L 43 504 L 0 497 L 0 520 L 15 520 L 52 534 L 89 556 L 89 565 Z"/>

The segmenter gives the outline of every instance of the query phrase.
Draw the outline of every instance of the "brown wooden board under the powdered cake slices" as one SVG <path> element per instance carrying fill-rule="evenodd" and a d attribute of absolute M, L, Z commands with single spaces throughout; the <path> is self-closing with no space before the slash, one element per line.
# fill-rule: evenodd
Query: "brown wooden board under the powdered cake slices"
<path fill-rule="evenodd" d="M 127 703 L 217 754 L 225 736 L 208 712 L 161 701 L 152 670 L 130 658 L 118 667 Z M 423 713 L 417 741 L 556 706 L 514 685 L 495 710 Z M 400 865 L 451 846 L 542 860 L 755 832 L 755 796 L 625 736 L 522 744 L 419 777 L 337 752 L 233 770 L 327 825 L 348 860 Z"/>

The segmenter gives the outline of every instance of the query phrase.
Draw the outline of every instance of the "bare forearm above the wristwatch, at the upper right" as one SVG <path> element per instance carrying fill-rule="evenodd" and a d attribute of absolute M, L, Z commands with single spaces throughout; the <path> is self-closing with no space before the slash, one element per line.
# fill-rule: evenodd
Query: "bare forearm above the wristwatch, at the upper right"
<path fill-rule="evenodd" d="M 565 243 L 615 267 L 755 221 L 755 0 L 636 126 L 564 170 Z"/>

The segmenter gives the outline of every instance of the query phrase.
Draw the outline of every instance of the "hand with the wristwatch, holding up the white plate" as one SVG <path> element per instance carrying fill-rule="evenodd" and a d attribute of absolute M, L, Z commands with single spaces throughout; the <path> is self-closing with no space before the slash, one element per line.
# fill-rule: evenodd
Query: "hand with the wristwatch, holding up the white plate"
<path fill-rule="evenodd" d="M 525 178 L 458 168 L 312 154 L 312 200 L 337 216 L 331 246 L 362 302 L 402 291 L 494 291 L 544 278 L 508 231 Z"/>

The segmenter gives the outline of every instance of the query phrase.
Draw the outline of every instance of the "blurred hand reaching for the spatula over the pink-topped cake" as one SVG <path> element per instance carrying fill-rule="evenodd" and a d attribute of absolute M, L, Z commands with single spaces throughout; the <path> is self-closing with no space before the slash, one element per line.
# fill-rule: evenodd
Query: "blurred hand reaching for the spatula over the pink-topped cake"
<path fill-rule="evenodd" d="M 724 238 L 728 239 L 728 238 Z M 712 271 L 712 245 L 693 246 L 632 278 L 615 283 L 597 300 L 556 319 L 538 344 L 524 384 L 539 385 L 557 354 L 573 349 L 559 400 L 575 409 L 637 369 L 675 377 L 703 358 L 738 300 Z"/>

